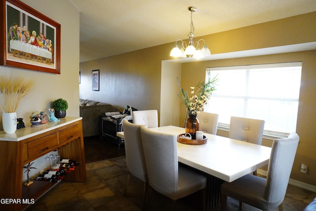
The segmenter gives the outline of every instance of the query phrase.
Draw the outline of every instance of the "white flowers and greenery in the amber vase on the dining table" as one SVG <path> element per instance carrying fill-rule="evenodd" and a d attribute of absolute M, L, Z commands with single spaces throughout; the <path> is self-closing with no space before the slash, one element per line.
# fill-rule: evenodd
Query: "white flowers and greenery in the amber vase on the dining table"
<path fill-rule="evenodd" d="M 208 74 L 210 74 L 209 71 Z M 212 91 L 216 89 L 216 81 L 217 76 L 213 79 L 210 79 L 209 77 L 207 82 L 200 82 L 197 84 L 197 91 L 194 91 L 195 87 L 190 87 L 192 96 L 189 97 L 188 92 L 181 88 L 179 78 L 177 77 L 177 83 L 180 88 L 180 94 L 177 93 L 177 95 L 181 102 L 186 106 L 189 116 L 197 115 L 199 111 L 203 110 L 204 106 L 207 104 L 207 100 L 211 97 Z"/>

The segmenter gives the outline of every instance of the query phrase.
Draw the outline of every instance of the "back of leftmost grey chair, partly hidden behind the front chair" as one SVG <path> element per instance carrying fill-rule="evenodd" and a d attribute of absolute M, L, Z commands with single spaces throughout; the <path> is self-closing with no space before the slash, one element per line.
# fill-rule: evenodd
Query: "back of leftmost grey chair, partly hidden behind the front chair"
<path fill-rule="evenodd" d="M 127 169 L 130 174 L 146 182 L 148 177 L 140 132 L 142 126 L 123 120 Z"/>

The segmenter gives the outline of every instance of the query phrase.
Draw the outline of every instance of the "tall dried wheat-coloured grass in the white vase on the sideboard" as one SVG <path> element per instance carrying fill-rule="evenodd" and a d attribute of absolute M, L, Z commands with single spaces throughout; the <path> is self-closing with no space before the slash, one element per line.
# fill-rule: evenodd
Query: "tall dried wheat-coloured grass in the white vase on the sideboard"
<path fill-rule="evenodd" d="M 16 112 L 21 99 L 33 88 L 34 81 L 21 76 L 0 75 L 0 109 L 2 113 Z"/>

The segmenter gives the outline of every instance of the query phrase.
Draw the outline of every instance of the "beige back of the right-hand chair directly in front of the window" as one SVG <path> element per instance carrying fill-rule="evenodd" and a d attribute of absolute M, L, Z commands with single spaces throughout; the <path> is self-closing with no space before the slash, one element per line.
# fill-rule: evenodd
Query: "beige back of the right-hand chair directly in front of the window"
<path fill-rule="evenodd" d="M 229 137 L 261 145 L 264 126 L 264 120 L 231 117 Z"/>

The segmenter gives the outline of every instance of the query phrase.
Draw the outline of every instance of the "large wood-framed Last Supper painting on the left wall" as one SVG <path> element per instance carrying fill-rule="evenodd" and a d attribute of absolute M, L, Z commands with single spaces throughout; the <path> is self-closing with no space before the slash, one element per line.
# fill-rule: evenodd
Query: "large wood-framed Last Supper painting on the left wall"
<path fill-rule="evenodd" d="M 1 0 L 0 16 L 0 65 L 60 74 L 60 24 L 20 0 Z"/>

